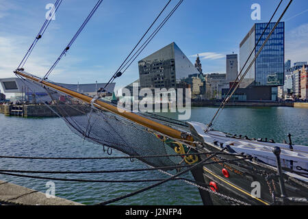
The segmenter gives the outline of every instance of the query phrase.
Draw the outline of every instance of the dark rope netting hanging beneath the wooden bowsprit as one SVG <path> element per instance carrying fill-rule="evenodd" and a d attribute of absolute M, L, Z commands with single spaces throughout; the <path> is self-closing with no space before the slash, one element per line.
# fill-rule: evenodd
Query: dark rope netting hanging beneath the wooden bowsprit
<path fill-rule="evenodd" d="M 108 146 L 129 156 L 177 155 L 179 153 L 196 152 L 188 149 L 181 142 L 166 138 L 160 133 L 155 133 L 153 130 L 112 112 L 97 109 L 91 104 L 44 86 L 42 83 L 25 78 L 22 81 L 25 87 L 31 88 L 29 93 L 25 94 L 26 100 L 29 99 L 47 105 L 49 110 L 53 111 L 53 114 L 60 116 L 65 121 L 71 131 L 85 140 Z M 48 95 L 38 96 L 36 92 L 38 90 L 39 93 L 44 91 Z M 100 98 L 100 100 L 115 105 L 107 98 Z M 154 114 L 142 114 L 140 112 L 135 114 L 158 121 L 179 131 L 189 132 L 188 126 L 180 121 L 168 120 Z M 140 157 L 138 159 L 154 167 L 179 166 L 181 168 L 183 165 L 195 163 L 198 157 L 192 155 L 186 157 Z"/>

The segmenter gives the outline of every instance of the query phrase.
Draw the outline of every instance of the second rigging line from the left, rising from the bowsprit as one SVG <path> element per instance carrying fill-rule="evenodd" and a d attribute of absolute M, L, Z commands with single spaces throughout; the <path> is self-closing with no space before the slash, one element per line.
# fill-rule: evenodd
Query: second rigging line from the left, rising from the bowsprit
<path fill-rule="evenodd" d="M 66 46 L 66 48 L 62 51 L 62 53 L 60 54 L 60 56 L 57 58 L 57 60 L 55 61 L 55 63 L 53 63 L 53 65 L 51 66 L 51 68 L 48 70 L 48 72 L 44 75 L 43 79 L 47 79 L 49 77 L 49 75 L 51 74 L 52 70 L 55 68 L 55 66 L 57 65 L 58 62 L 60 62 L 60 60 L 62 59 L 63 55 L 66 55 L 68 49 L 70 49 L 70 47 L 72 46 L 72 44 L 75 42 L 75 40 L 77 39 L 77 37 L 79 36 L 79 34 L 81 33 L 81 31 L 84 29 L 84 27 L 86 27 L 86 25 L 88 24 L 88 22 L 90 21 L 90 19 L 92 18 L 93 14 L 97 11 L 97 9 L 99 8 L 99 5 L 101 5 L 101 3 L 103 2 L 103 0 L 99 0 L 97 1 L 97 4 L 94 5 L 94 8 L 92 9 L 92 11 L 90 12 L 90 14 L 87 16 L 86 20 L 84 21 L 84 23 L 82 23 L 82 25 L 79 27 L 78 31 L 76 32 L 76 34 L 73 36 L 73 38 L 70 40 L 70 42 L 68 42 L 68 45 Z"/>

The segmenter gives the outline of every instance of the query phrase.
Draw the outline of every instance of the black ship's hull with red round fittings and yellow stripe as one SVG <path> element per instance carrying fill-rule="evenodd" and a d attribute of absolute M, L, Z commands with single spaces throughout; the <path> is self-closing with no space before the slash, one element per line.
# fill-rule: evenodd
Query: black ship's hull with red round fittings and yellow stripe
<path fill-rule="evenodd" d="M 204 149 L 203 152 L 219 151 L 209 145 L 205 146 Z M 207 157 L 201 155 L 203 160 Z M 219 155 L 213 157 L 210 162 L 219 162 L 222 159 L 232 159 L 232 157 Z M 227 170 L 229 177 L 223 174 L 222 169 Z M 281 190 L 277 172 L 274 168 L 258 162 L 240 161 L 209 164 L 194 170 L 192 175 L 195 181 L 205 188 L 214 190 L 214 187 L 209 185 L 211 182 L 216 183 L 216 192 L 224 195 L 221 196 L 214 194 L 214 192 L 199 189 L 204 205 L 244 205 L 244 203 L 248 205 L 307 205 L 307 203 L 290 202 L 287 199 L 280 198 Z M 287 197 L 308 197 L 307 183 L 287 175 L 284 175 L 284 181 Z M 258 183 L 259 185 L 256 185 Z M 257 187 L 260 189 L 259 194 L 255 192 Z M 233 201 L 229 197 L 243 203 Z"/>

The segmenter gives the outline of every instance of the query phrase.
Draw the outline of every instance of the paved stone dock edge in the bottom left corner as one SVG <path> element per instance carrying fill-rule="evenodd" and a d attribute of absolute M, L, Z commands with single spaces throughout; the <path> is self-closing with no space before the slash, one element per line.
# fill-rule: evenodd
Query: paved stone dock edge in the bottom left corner
<path fill-rule="evenodd" d="M 42 192 L 0 180 L 0 205 L 82 205 L 65 198 L 47 198 Z"/>

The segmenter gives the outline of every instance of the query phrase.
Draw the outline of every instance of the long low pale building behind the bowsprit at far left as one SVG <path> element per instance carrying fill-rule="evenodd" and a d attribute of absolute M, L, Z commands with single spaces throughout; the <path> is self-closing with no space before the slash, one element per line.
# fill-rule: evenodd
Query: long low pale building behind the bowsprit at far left
<path fill-rule="evenodd" d="M 15 95 L 15 99 L 20 101 L 35 101 L 39 102 L 50 102 L 51 98 L 46 90 L 34 83 L 24 83 L 22 79 L 19 78 L 5 78 L 0 79 L 3 92 L 12 93 Z M 95 96 L 98 92 L 101 94 L 110 94 L 114 92 L 114 87 L 116 83 L 110 83 L 106 88 L 106 83 L 84 83 L 84 84 L 68 84 L 68 83 L 56 83 L 58 86 L 64 88 L 81 92 L 88 96 Z M 105 88 L 105 90 L 103 90 Z"/>

